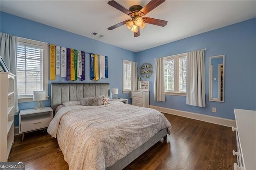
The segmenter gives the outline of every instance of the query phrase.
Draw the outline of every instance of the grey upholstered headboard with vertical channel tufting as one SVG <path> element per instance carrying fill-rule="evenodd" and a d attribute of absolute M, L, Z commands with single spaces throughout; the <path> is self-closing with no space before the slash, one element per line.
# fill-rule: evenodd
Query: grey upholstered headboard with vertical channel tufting
<path fill-rule="evenodd" d="M 51 87 L 53 111 L 66 101 L 77 101 L 80 98 L 98 95 L 110 96 L 109 83 L 51 83 Z"/>

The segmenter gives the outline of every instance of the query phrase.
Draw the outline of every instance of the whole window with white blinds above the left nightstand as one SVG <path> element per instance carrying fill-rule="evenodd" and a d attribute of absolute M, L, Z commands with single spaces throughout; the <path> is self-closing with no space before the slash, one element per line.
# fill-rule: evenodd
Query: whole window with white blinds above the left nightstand
<path fill-rule="evenodd" d="M 47 43 L 18 38 L 17 87 L 19 102 L 32 101 L 33 91 L 48 94 Z"/>

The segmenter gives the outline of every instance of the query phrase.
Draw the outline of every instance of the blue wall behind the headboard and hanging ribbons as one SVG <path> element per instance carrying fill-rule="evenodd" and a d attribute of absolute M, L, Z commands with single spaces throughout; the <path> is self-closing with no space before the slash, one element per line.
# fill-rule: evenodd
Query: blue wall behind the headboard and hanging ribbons
<path fill-rule="evenodd" d="M 122 60 L 127 59 L 130 61 L 136 61 L 136 53 L 110 45 L 107 43 L 99 42 L 90 38 L 79 36 L 64 30 L 60 30 L 54 27 L 46 26 L 38 22 L 26 20 L 14 15 L 10 15 L 4 12 L 0 13 L 0 32 L 12 34 L 22 38 L 28 38 L 31 40 L 37 40 L 41 42 L 48 42 L 63 47 L 74 48 L 89 53 L 97 53 L 100 55 L 108 56 L 108 79 L 100 79 L 96 83 L 110 83 L 110 89 L 112 87 L 119 89 L 118 97 L 128 99 L 131 103 L 130 93 L 122 93 Z M 49 62 L 49 60 L 48 60 Z M 89 54 L 86 54 L 86 69 L 85 69 L 85 81 L 79 81 L 78 83 L 94 83 L 90 80 L 90 58 Z M 49 70 L 49 69 L 48 69 Z M 119 71 L 116 71 L 119 70 Z M 48 71 L 49 75 L 49 71 Z M 49 77 L 49 76 L 48 76 Z M 50 83 L 52 82 L 68 82 L 60 75 L 56 75 L 54 81 L 48 80 L 48 95 L 50 96 Z M 72 81 L 74 82 L 74 81 Z M 49 101 L 43 101 L 44 106 L 50 106 Z M 19 103 L 19 109 L 34 108 L 36 102 Z M 18 126 L 18 116 L 15 116 L 15 126 Z"/>

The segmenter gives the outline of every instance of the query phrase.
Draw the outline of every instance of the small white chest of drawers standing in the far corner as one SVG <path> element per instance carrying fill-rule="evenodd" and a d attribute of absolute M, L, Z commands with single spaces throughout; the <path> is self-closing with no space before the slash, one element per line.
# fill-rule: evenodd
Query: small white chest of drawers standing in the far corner
<path fill-rule="evenodd" d="M 149 91 L 132 91 L 132 105 L 149 107 Z"/>

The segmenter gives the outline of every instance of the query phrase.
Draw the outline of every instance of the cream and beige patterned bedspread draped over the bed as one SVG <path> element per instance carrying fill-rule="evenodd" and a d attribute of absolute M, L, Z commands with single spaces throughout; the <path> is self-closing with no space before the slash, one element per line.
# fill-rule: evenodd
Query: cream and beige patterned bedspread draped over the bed
<path fill-rule="evenodd" d="M 104 170 L 171 124 L 154 109 L 110 101 L 61 108 L 48 133 L 58 139 L 69 169 Z"/>

